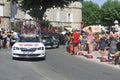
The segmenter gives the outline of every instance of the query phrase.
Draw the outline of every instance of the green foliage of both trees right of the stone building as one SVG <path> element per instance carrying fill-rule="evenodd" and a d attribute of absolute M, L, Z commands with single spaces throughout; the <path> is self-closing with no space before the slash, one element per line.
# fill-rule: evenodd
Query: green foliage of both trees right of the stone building
<path fill-rule="evenodd" d="M 85 1 L 83 2 L 82 17 L 86 26 L 96 23 L 111 26 L 115 20 L 120 22 L 120 2 L 118 0 L 107 0 L 99 7 L 92 1 Z"/>

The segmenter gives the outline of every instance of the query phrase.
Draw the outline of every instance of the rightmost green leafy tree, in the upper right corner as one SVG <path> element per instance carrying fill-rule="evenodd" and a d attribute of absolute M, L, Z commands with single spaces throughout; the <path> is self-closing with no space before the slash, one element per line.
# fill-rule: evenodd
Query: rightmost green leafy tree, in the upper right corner
<path fill-rule="evenodd" d="M 101 22 L 103 25 L 113 25 L 115 20 L 120 21 L 120 2 L 107 0 L 101 7 Z"/>

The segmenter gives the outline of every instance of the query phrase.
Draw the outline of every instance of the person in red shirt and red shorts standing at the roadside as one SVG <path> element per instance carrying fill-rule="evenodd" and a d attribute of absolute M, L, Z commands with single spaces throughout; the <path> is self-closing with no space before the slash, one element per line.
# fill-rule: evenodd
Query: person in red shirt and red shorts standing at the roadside
<path fill-rule="evenodd" d="M 73 37 L 73 46 L 74 46 L 74 54 L 78 52 L 78 44 L 79 44 L 79 33 L 75 30 L 72 34 Z"/>

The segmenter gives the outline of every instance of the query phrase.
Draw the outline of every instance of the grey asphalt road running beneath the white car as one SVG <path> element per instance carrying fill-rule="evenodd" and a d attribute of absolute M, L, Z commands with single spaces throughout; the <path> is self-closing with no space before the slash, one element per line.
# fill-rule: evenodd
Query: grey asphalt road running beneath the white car
<path fill-rule="evenodd" d="M 0 80 L 120 80 L 120 70 L 71 56 L 65 46 L 47 49 L 45 61 L 12 60 L 0 50 Z"/>

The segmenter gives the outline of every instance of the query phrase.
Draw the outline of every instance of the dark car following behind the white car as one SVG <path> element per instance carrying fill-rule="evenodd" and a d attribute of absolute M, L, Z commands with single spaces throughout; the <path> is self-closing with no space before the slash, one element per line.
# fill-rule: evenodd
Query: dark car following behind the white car
<path fill-rule="evenodd" d="M 55 35 L 42 34 L 41 39 L 46 48 L 59 48 L 59 39 Z"/>

